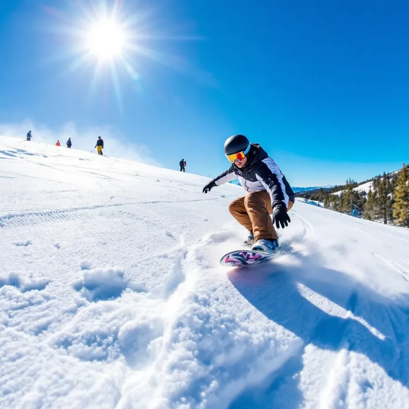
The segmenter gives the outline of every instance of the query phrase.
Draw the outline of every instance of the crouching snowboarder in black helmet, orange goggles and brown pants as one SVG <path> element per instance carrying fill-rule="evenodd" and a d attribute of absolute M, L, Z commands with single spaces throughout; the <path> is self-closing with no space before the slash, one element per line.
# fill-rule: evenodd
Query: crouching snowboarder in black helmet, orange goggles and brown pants
<path fill-rule="evenodd" d="M 294 192 L 264 149 L 250 144 L 244 135 L 228 138 L 224 153 L 231 167 L 204 186 L 203 192 L 239 178 L 248 193 L 231 202 L 229 211 L 250 233 L 245 245 L 251 245 L 254 251 L 273 253 L 279 246 L 273 222 L 277 228 L 288 226 L 291 220 L 287 212 L 294 204 Z"/>

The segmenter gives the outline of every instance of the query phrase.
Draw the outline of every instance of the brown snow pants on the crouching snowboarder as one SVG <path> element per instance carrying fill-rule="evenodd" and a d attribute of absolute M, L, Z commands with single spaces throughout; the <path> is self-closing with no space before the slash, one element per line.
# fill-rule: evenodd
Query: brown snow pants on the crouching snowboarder
<path fill-rule="evenodd" d="M 293 206 L 289 201 L 287 211 Z M 273 210 L 271 198 L 266 190 L 248 193 L 243 198 L 234 200 L 229 204 L 232 216 L 249 232 L 253 232 L 254 240 L 278 239 L 276 229 L 271 220 Z"/>

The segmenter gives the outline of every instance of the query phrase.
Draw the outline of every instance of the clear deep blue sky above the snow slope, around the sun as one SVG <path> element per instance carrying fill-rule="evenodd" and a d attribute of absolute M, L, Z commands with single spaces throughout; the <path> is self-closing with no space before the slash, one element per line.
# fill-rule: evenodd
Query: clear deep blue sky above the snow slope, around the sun
<path fill-rule="evenodd" d="M 0 1 L 0 124 L 98 127 L 108 155 L 116 138 L 211 176 L 244 133 L 293 186 L 409 162 L 408 2 L 118 1 L 139 49 L 133 75 L 114 61 L 116 86 L 78 51 L 95 4 Z"/>

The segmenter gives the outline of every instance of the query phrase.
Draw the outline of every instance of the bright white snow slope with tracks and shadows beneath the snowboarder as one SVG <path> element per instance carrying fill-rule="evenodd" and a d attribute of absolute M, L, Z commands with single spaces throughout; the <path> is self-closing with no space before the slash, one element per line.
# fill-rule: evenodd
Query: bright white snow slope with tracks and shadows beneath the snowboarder
<path fill-rule="evenodd" d="M 0 137 L 1 408 L 409 408 L 409 230 L 297 202 L 229 270 L 206 180 Z"/>

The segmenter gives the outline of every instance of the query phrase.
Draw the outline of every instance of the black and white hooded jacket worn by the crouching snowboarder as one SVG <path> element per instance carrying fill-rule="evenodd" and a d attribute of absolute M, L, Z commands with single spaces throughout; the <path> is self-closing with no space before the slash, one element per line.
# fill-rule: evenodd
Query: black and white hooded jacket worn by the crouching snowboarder
<path fill-rule="evenodd" d="M 272 207 L 279 202 L 284 202 L 286 206 L 288 201 L 294 202 L 294 192 L 283 172 L 258 144 L 251 144 L 244 167 L 232 164 L 230 169 L 215 177 L 213 182 L 219 186 L 236 178 L 247 192 L 266 190 L 271 197 Z"/>

